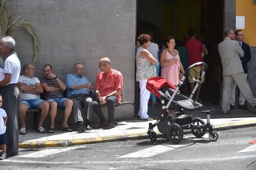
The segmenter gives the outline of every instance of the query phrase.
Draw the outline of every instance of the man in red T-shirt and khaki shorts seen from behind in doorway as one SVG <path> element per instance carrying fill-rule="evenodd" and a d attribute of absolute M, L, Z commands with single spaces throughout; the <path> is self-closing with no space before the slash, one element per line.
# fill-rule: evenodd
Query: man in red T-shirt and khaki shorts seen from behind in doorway
<path fill-rule="evenodd" d="M 208 51 L 206 47 L 198 40 L 196 40 L 196 31 L 193 28 L 190 28 L 188 30 L 188 35 L 190 39 L 186 42 L 185 47 L 186 51 L 188 54 L 188 66 L 191 66 L 192 64 L 196 62 L 203 62 L 202 58 L 202 52 L 204 55 L 208 54 Z M 193 78 L 198 79 L 200 76 L 200 71 L 201 71 L 201 65 L 198 65 L 197 67 L 193 67 L 189 70 L 189 75 L 188 75 L 188 80 L 190 84 L 190 90 L 191 92 L 193 91 L 195 87 L 195 81 Z M 204 77 L 201 83 L 204 82 Z M 195 101 L 202 102 L 199 98 L 199 94 L 202 88 L 202 84 L 199 84 L 197 91 L 196 91 L 196 96 L 195 96 Z"/>

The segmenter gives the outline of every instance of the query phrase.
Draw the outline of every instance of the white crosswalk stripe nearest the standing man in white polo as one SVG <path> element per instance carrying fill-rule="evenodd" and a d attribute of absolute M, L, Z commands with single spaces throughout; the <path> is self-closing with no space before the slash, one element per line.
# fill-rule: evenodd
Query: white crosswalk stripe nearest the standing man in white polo
<path fill-rule="evenodd" d="M 67 147 L 67 148 L 63 148 L 63 149 L 45 149 L 45 150 L 40 150 L 38 152 L 24 154 L 24 155 L 17 156 L 17 157 L 45 157 L 45 156 L 49 156 L 51 154 L 66 152 L 69 150 L 83 148 L 83 147 L 86 147 L 86 146 L 73 146 L 73 147 Z"/>

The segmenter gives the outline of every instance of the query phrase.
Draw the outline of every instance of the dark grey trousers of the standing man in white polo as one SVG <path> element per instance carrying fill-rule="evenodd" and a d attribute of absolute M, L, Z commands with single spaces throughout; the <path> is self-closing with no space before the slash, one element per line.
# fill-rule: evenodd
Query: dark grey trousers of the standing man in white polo
<path fill-rule="evenodd" d="M 6 123 L 7 149 L 6 152 L 18 154 L 18 103 L 20 92 L 17 84 L 9 84 L 0 88 L 0 95 L 3 97 L 2 108 L 8 115 Z"/>

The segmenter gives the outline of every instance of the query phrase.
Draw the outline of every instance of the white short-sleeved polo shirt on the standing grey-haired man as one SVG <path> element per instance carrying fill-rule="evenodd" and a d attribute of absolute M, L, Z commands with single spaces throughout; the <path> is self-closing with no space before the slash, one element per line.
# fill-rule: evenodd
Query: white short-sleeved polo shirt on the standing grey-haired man
<path fill-rule="evenodd" d="M 11 74 L 11 81 L 9 84 L 18 83 L 18 77 L 20 76 L 20 60 L 16 52 L 11 54 L 4 61 L 4 74 Z"/>

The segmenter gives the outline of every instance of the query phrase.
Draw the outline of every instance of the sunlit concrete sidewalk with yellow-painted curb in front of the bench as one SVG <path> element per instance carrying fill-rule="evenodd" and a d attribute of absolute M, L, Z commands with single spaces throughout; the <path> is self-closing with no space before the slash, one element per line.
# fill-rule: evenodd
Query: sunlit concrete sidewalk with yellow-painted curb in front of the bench
<path fill-rule="evenodd" d="M 237 106 L 235 109 L 230 110 L 226 115 L 221 113 L 221 106 L 214 105 L 208 102 L 202 102 L 202 110 L 215 109 L 215 112 L 210 115 L 210 123 L 215 125 L 214 130 L 228 130 L 235 128 L 243 128 L 249 126 L 255 126 L 256 128 L 256 113 L 249 110 L 239 109 Z M 162 112 L 162 106 L 160 104 L 151 106 L 148 105 L 148 115 L 151 118 L 158 119 Z M 206 121 L 206 114 L 201 113 L 202 110 L 194 110 L 192 112 L 186 112 L 188 115 L 192 115 L 193 118 L 202 118 Z M 116 113 L 118 114 L 118 113 Z M 98 142 L 111 142 L 120 140 L 136 140 L 136 139 L 148 139 L 148 123 L 155 123 L 156 120 L 145 121 L 139 119 L 121 120 L 115 121 L 118 125 L 113 129 L 103 130 L 97 129 L 99 123 L 93 123 L 92 130 L 85 132 L 64 132 L 61 128 L 55 128 L 55 133 L 38 133 L 32 129 L 27 129 L 26 135 L 19 135 L 19 147 L 20 148 L 40 148 L 50 146 L 72 146 L 82 145 L 88 143 Z M 77 129 L 76 126 L 71 126 L 73 130 Z M 46 128 L 46 130 L 48 130 Z M 158 132 L 157 126 L 154 128 L 157 135 L 161 135 Z M 187 132 L 185 132 L 187 131 Z M 184 130 L 185 133 L 189 133 L 189 130 Z"/>

